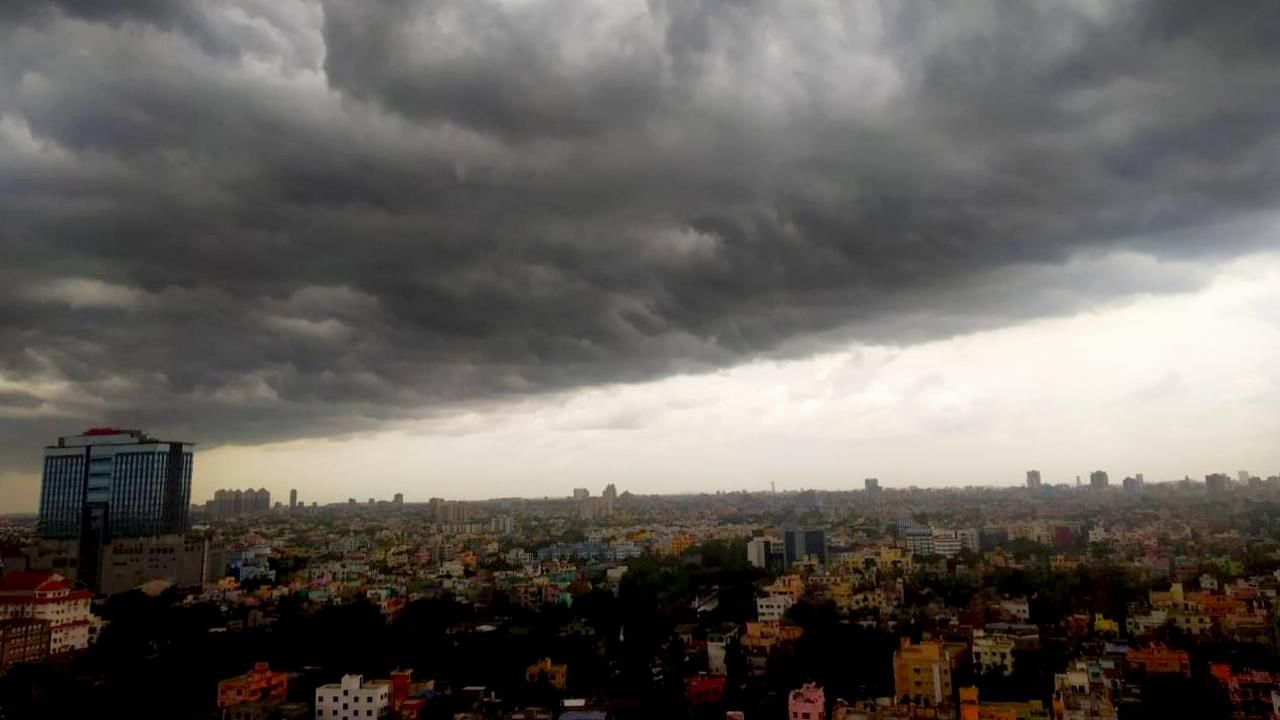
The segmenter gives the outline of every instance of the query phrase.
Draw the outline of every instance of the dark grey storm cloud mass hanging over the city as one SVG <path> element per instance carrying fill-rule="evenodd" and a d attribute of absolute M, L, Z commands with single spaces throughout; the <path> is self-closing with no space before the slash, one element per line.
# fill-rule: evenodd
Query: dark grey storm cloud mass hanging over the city
<path fill-rule="evenodd" d="M 1275 4 L 801 5 L 6 4 L 5 462 L 915 342 L 1258 242 Z"/>

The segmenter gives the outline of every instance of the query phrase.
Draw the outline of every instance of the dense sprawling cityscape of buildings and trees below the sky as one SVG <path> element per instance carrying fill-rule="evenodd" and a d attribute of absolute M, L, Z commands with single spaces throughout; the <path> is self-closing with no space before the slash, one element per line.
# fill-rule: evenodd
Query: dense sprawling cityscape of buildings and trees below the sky
<path fill-rule="evenodd" d="M 0 525 L 5 717 L 1275 717 L 1280 474 L 189 502 L 91 428 Z M 142 680 L 145 678 L 145 680 Z"/>

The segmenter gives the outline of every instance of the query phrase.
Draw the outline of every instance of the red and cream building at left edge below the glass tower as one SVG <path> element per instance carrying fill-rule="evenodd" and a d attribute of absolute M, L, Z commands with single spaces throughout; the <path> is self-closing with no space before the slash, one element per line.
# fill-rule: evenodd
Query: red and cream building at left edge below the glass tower
<path fill-rule="evenodd" d="M 49 623 L 49 655 L 88 647 L 88 591 L 72 588 L 56 573 L 27 570 L 0 575 L 0 619 Z"/>

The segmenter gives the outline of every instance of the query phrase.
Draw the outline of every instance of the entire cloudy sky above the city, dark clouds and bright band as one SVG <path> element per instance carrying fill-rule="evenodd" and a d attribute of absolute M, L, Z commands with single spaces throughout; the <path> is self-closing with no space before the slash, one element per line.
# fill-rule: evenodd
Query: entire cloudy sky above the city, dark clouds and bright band
<path fill-rule="evenodd" d="M 1280 6 L 0 4 L 0 510 L 1280 473 Z M 1270 411 L 1270 413 L 1268 413 Z"/>

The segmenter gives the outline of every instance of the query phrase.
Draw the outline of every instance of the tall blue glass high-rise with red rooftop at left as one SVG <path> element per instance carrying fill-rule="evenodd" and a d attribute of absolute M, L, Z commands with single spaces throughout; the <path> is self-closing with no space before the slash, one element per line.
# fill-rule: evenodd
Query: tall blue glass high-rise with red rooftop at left
<path fill-rule="evenodd" d="M 78 539 L 78 579 L 96 589 L 113 538 L 187 532 L 193 450 L 116 428 L 58 438 L 45 448 L 41 537 Z"/>

